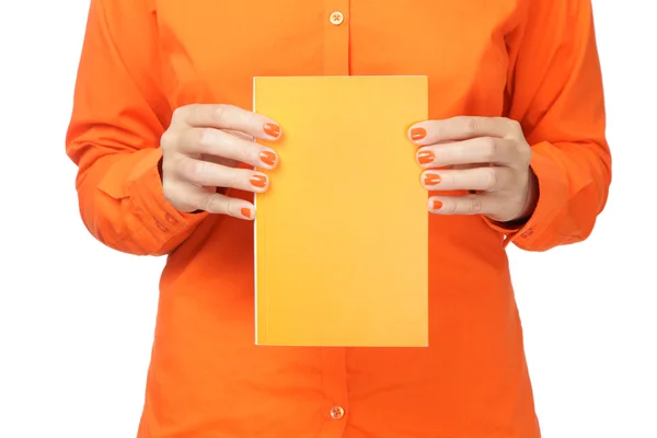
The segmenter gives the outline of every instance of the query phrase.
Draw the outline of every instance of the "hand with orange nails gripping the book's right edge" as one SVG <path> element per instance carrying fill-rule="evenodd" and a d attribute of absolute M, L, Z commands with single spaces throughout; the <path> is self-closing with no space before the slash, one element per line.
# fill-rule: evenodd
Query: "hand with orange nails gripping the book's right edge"
<path fill-rule="evenodd" d="M 433 196 L 437 215 L 484 215 L 497 222 L 528 218 L 538 198 L 529 163 L 531 148 L 520 124 L 503 117 L 453 117 L 411 127 L 420 146 L 417 162 L 429 191 L 469 191 L 463 196 Z"/>

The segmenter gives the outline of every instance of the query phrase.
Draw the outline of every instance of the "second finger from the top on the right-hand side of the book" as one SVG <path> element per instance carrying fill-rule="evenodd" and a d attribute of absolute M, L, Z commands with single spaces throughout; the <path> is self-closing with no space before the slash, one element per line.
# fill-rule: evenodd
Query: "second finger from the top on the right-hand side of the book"
<path fill-rule="evenodd" d="M 517 160 L 517 148 L 514 140 L 481 137 L 425 146 L 417 150 L 416 157 L 418 164 L 425 169 L 484 163 L 511 165 Z"/>

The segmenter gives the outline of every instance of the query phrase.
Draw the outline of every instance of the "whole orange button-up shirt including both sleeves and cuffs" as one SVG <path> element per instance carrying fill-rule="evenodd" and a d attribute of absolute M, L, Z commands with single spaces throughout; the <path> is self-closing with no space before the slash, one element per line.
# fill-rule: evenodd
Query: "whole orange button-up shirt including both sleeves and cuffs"
<path fill-rule="evenodd" d="M 174 108 L 321 74 L 426 74 L 430 118 L 507 116 L 533 148 L 526 224 L 430 217 L 428 348 L 255 346 L 253 223 L 162 195 Z M 67 152 L 91 233 L 168 255 L 139 438 L 540 436 L 505 245 L 580 241 L 606 203 L 590 0 L 92 0 Z"/>

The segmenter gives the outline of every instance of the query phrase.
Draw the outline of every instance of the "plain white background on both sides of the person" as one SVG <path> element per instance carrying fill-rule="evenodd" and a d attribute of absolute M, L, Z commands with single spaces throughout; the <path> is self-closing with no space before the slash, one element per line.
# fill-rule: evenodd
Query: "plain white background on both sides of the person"
<path fill-rule="evenodd" d="M 89 0 L 0 0 L 0 437 L 136 436 L 163 258 L 113 252 L 64 150 Z M 585 243 L 510 250 L 545 438 L 657 438 L 657 25 L 593 0 L 614 181 Z"/>

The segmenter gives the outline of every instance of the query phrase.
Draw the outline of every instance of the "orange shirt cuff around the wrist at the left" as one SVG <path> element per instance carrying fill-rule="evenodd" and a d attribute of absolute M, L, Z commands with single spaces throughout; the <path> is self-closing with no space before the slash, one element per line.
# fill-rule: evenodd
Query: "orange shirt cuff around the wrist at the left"
<path fill-rule="evenodd" d="M 135 215 L 142 224 L 141 232 L 153 237 L 160 246 L 170 243 L 177 246 L 182 242 L 181 235 L 188 235 L 189 231 L 209 216 L 208 212 L 182 212 L 173 207 L 162 192 L 162 178 L 159 162 L 162 159 L 160 148 L 145 152 L 141 160 L 132 168 L 128 177 L 128 195 L 132 201 Z"/>

